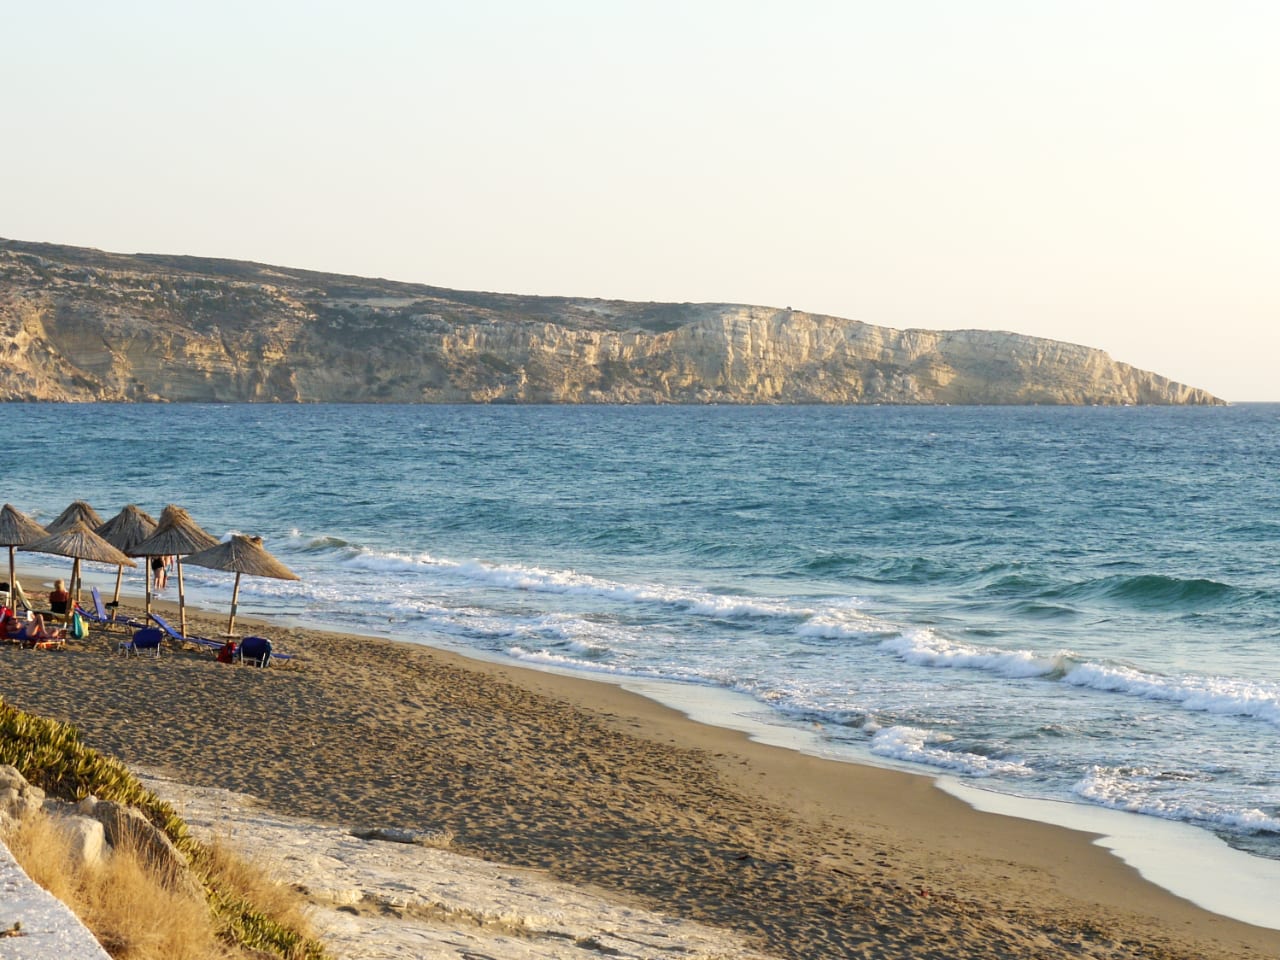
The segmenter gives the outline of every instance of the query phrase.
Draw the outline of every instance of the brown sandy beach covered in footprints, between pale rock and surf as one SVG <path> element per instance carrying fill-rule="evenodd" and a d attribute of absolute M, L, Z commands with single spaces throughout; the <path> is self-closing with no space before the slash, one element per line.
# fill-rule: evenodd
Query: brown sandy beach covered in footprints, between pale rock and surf
<path fill-rule="evenodd" d="M 192 632 L 224 621 L 188 614 Z M 260 625 L 269 669 L 207 652 L 0 649 L 0 696 L 183 783 L 740 934 L 776 957 L 1263 957 L 1280 931 L 1149 884 L 1088 835 L 978 813 L 928 777 L 695 723 L 613 685 Z"/>

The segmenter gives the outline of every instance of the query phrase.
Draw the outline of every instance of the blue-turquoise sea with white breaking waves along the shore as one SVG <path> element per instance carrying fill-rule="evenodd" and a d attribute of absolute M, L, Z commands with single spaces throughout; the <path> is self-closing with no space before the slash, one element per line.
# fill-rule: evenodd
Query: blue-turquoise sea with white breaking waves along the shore
<path fill-rule="evenodd" d="M 246 612 L 731 689 L 833 749 L 1280 858 L 1280 406 L 6 404 L 0 425 L 0 497 L 38 520 L 179 503 L 264 535 L 303 580 L 246 580 Z M 228 577 L 187 577 L 225 605 Z"/>

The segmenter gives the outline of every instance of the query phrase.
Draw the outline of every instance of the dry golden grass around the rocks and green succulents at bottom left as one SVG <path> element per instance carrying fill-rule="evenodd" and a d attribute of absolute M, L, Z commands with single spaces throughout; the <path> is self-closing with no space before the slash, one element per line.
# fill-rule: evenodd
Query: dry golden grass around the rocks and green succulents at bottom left
<path fill-rule="evenodd" d="M 4 836 L 36 883 L 67 904 L 115 960 L 234 960 L 250 954 L 219 936 L 204 893 L 183 878 L 157 873 L 138 845 L 125 838 L 101 864 L 81 867 L 67 836 L 37 814 Z M 274 916 L 305 931 L 301 896 L 271 882 L 224 845 L 211 845 L 207 868 Z"/>

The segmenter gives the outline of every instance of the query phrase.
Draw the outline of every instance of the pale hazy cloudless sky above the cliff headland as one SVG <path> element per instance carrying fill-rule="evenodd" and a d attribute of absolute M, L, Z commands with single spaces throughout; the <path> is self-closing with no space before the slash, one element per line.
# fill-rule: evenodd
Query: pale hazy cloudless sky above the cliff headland
<path fill-rule="evenodd" d="M 1280 401 L 1280 3 L 4 3 L 0 237 L 1100 347 Z"/>

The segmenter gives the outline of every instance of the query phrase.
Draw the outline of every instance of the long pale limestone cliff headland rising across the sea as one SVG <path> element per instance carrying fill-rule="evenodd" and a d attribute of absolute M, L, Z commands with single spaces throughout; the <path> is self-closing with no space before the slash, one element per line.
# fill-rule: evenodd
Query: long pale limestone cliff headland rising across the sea
<path fill-rule="evenodd" d="M 1056 340 L 0 241 L 0 399 L 1217 403 Z"/>

